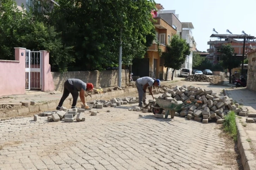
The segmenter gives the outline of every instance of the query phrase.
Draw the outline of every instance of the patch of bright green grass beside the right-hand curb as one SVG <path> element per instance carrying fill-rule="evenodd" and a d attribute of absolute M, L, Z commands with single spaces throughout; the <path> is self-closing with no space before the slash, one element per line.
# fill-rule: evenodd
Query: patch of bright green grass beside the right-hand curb
<path fill-rule="evenodd" d="M 231 111 L 225 116 L 223 129 L 233 138 L 234 141 L 237 141 L 236 113 L 234 113 L 234 111 Z"/>

